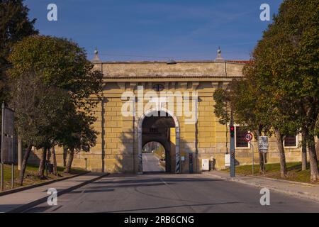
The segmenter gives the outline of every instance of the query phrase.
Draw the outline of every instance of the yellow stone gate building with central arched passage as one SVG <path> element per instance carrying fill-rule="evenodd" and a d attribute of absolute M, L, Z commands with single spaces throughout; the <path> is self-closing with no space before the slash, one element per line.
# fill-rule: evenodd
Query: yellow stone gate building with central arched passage
<path fill-rule="evenodd" d="M 242 78 L 247 62 L 225 61 L 218 51 L 216 60 L 190 62 L 101 62 L 96 52 L 93 63 L 104 74 L 103 94 L 94 111 L 99 135 L 89 153 L 74 155 L 74 167 L 142 173 L 142 148 L 150 141 L 165 148 L 167 172 L 201 172 L 203 160 L 218 170 L 227 166 L 228 126 L 213 113 L 213 92 Z M 235 126 L 237 165 L 252 163 L 252 148 L 244 135 Z M 257 164 L 256 140 L 252 144 Z M 300 144 L 299 135 L 286 139 L 287 162 L 301 160 Z M 65 165 L 66 151 L 55 150 L 57 164 Z M 269 139 L 267 162 L 279 162 L 274 138 Z"/>

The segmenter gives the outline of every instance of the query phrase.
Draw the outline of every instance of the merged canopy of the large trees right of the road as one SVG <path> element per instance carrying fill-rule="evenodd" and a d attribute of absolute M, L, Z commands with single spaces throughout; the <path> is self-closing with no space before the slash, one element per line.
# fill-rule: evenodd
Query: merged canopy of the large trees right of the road
<path fill-rule="evenodd" d="M 314 136 L 319 111 L 319 2 L 286 0 L 245 65 L 245 79 L 233 81 L 218 99 L 216 111 L 230 100 L 235 121 L 252 131 L 279 138 L 304 133 L 310 154 L 311 179 L 318 179 Z M 217 94 L 222 94 L 216 91 Z"/>

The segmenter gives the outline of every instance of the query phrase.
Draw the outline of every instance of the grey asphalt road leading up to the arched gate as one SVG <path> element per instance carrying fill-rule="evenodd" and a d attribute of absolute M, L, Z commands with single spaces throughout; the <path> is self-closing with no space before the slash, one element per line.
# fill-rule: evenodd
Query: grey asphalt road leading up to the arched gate
<path fill-rule="evenodd" d="M 28 212 L 319 212 L 319 203 L 203 175 L 109 175 Z"/>

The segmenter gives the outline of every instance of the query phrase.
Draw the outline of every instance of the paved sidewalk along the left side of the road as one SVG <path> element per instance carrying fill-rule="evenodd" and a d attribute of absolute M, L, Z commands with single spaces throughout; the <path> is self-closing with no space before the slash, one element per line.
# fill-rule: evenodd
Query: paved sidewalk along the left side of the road
<path fill-rule="evenodd" d="M 106 176 L 106 173 L 92 173 L 89 172 L 79 177 L 65 179 L 60 182 L 53 182 L 33 189 L 26 189 L 22 192 L 15 192 L 12 194 L 0 196 L 0 213 L 7 212 L 21 212 L 29 209 L 32 206 L 41 204 L 47 200 L 47 189 L 57 189 L 57 195 L 65 194 L 85 184 L 94 182 Z"/>

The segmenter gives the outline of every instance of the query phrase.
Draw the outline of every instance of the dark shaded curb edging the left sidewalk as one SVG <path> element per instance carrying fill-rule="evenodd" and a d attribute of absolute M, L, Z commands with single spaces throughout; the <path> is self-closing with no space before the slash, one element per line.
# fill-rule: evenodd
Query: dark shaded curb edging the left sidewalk
<path fill-rule="evenodd" d="M 67 192 L 73 191 L 74 189 L 77 189 L 79 187 L 83 187 L 86 184 L 90 184 L 91 182 L 95 182 L 96 180 L 101 179 L 103 177 L 106 177 L 107 175 L 109 175 L 109 173 L 103 174 L 103 175 L 101 175 L 99 177 L 95 177 L 94 179 L 90 179 L 90 180 L 88 180 L 86 182 L 82 182 L 81 184 L 77 184 L 77 185 L 74 185 L 74 186 L 69 187 L 67 189 L 64 189 L 64 190 L 62 190 L 60 192 L 57 192 L 57 196 L 61 196 L 62 194 L 65 194 Z M 48 196 L 50 196 L 50 195 L 48 195 Z M 32 201 L 32 202 L 30 202 L 28 204 L 24 204 L 22 206 L 19 206 L 19 207 L 15 208 L 15 209 L 7 211 L 6 213 L 23 213 L 23 211 L 26 211 L 26 210 L 32 208 L 33 206 L 37 206 L 37 205 L 42 204 L 45 201 L 47 201 L 47 197 L 48 196 L 45 196 L 45 197 L 43 197 L 41 199 L 37 199 L 37 200 Z"/>

